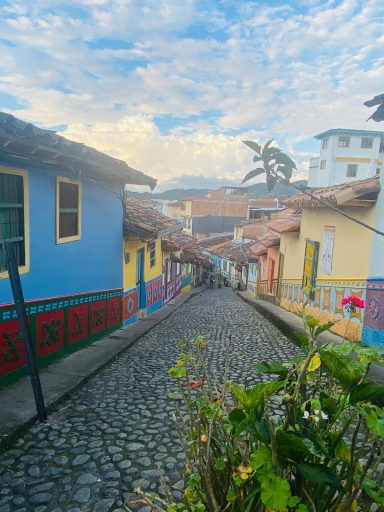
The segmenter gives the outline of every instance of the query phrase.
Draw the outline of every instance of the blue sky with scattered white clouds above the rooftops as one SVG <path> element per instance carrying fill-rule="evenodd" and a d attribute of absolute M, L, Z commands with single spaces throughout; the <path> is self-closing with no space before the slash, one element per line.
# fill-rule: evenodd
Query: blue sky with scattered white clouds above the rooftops
<path fill-rule="evenodd" d="M 301 179 L 317 133 L 382 129 L 363 102 L 383 49 L 383 0 L 0 0 L 0 110 L 159 191 L 239 185 L 242 140 L 273 138 Z"/>

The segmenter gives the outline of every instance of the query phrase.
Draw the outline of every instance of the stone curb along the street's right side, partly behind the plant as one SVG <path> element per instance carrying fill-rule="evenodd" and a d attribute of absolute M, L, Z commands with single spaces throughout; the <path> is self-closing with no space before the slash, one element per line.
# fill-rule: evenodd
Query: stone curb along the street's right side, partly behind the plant
<path fill-rule="evenodd" d="M 267 320 L 274 324 L 293 343 L 298 344 L 296 334 L 305 334 L 302 320 L 299 316 L 287 311 L 277 304 L 253 298 L 248 292 L 237 292 L 245 302 L 262 314 Z M 342 343 L 342 339 L 331 332 L 324 332 L 318 337 L 321 343 Z M 384 364 L 372 363 L 369 371 L 372 382 L 384 385 Z"/>

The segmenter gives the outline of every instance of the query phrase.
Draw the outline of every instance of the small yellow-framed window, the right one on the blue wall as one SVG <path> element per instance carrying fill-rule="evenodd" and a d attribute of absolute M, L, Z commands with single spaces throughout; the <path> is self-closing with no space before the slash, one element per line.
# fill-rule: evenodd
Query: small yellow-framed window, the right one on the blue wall
<path fill-rule="evenodd" d="M 81 238 L 81 183 L 58 177 L 56 186 L 56 243 Z"/>

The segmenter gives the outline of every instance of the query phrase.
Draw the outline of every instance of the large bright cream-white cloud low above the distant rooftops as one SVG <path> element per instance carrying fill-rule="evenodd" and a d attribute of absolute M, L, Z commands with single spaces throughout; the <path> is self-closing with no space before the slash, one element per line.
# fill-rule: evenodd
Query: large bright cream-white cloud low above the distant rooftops
<path fill-rule="evenodd" d="M 197 130 L 161 135 L 148 116 L 123 117 L 118 122 L 92 126 L 74 124 L 61 134 L 125 160 L 157 178 L 160 188 L 176 183 L 181 186 L 181 176 L 208 176 L 208 181 L 212 177 L 213 181 L 238 185 L 252 165 L 252 155 L 243 146 L 241 136 Z M 255 137 L 254 133 L 245 135 Z"/>

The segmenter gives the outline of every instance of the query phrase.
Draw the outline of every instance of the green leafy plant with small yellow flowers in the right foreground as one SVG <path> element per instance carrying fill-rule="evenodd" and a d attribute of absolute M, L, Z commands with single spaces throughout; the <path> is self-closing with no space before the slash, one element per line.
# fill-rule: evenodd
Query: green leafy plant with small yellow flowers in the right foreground
<path fill-rule="evenodd" d="M 270 380 L 249 387 L 228 380 L 228 363 L 220 381 L 210 375 L 205 338 L 180 344 L 169 373 L 186 456 L 183 499 L 168 493 L 161 503 L 147 497 L 147 505 L 167 512 L 384 510 L 384 410 L 376 402 L 384 386 L 367 379 L 383 351 L 320 345 L 317 336 L 332 323 L 320 324 L 305 308 L 303 321 L 303 356 L 254 365 Z"/>

